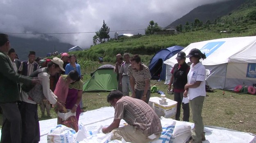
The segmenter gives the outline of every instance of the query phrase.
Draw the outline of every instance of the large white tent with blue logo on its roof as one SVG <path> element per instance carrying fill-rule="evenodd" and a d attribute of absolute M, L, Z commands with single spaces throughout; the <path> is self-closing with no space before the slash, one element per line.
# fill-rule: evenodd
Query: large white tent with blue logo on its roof
<path fill-rule="evenodd" d="M 256 36 L 233 37 L 196 42 L 182 51 L 188 55 L 193 48 L 206 54 L 202 64 L 211 71 L 207 77 L 212 88 L 229 89 L 245 83 L 256 83 Z M 166 82 L 170 82 L 170 71 L 177 60 L 177 55 L 166 60 Z M 189 58 L 186 62 L 190 62 Z"/>

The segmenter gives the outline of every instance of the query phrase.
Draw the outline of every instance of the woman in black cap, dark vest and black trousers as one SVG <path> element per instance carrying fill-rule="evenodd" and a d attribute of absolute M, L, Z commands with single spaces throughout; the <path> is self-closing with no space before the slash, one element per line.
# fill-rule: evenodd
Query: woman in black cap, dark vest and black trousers
<path fill-rule="evenodd" d="M 183 92 L 184 87 L 186 83 L 188 82 L 188 71 L 189 66 L 185 62 L 186 61 L 186 54 L 184 52 L 179 52 L 177 54 L 177 64 L 174 65 L 172 68 L 172 77 L 170 80 L 170 84 L 168 86 L 168 89 L 171 90 L 171 85 L 173 84 L 173 91 L 174 91 L 174 101 L 177 101 L 177 113 L 175 116 L 175 120 L 180 120 L 180 114 L 181 114 L 181 103 L 183 99 Z M 182 109 L 183 109 L 183 121 L 189 121 L 189 103 L 182 103 Z"/>

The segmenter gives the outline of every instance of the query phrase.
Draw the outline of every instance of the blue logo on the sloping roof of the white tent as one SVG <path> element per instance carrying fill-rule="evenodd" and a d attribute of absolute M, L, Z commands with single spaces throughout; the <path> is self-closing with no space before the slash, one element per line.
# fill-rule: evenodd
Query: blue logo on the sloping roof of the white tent
<path fill-rule="evenodd" d="M 220 48 L 220 46 L 224 43 L 225 41 L 209 42 L 206 45 L 204 45 L 203 48 L 200 49 L 200 51 L 202 53 L 205 53 L 206 57 L 208 57 L 208 55 L 211 55 L 211 53 Z"/>

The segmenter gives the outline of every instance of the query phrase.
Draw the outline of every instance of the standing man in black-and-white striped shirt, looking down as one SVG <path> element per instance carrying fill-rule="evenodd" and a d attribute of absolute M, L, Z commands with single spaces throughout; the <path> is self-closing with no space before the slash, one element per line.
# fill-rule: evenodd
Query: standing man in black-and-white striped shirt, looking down
<path fill-rule="evenodd" d="M 150 100 L 151 75 L 149 68 L 140 61 L 139 55 L 134 55 L 131 58 L 131 65 L 128 70 L 132 90 L 131 97 L 141 99 L 148 103 Z"/>

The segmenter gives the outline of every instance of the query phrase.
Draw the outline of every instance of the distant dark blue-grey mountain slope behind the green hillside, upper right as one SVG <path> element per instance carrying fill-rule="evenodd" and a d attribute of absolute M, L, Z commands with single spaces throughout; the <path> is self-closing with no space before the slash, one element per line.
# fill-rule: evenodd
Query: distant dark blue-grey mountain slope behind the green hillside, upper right
<path fill-rule="evenodd" d="M 167 27 L 177 26 L 179 24 L 184 25 L 187 21 L 191 23 L 194 22 L 195 18 L 203 22 L 206 22 L 207 20 L 213 21 L 219 16 L 227 15 L 233 10 L 236 10 L 244 2 L 245 0 L 229 0 L 226 2 L 202 5 L 193 9 L 183 17 L 175 20 Z"/>

